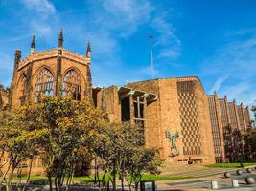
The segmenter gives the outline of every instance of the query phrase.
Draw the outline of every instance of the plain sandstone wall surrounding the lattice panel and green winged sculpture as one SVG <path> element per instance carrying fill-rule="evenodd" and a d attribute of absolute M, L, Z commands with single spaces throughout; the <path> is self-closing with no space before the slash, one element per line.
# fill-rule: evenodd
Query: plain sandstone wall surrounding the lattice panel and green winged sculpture
<path fill-rule="evenodd" d="M 198 106 L 198 122 L 200 129 L 200 140 L 202 142 L 202 155 L 196 156 L 184 156 L 183 155 L 183 142 L 181 131 L 181 119 L 180 108 L 177 94 L 177 81 L 196 81 L 197 86 L 195 94 L 197 97 Z M 149 81 L 135 82 L 127 85 L 128 87 L 152 92 L 158 95 L 157 101 L 151 103 L 147 107 L 147 139 L 146 142 L 149 146 L 155 145 L 161 150 L 161 157 L 163 159 L 182 161 L 187 160 L 189 157 L 192 159 L 202 159 L 204 163 L 214 163 L 214 147 L 213 138 L 211 133 L 210 116 L 208 110 L 207 97 L 203 91 L 203 88 L 196 77 L 184 77 L 180 78 L 167 78 L 167 79 L 155 79 Z M 153 116 L 153 117 L 152 117 Z M 169 157 L 170 154 L 170 142 L 165 137 L 165 131 L 169 131 L 174 134 L 175 131 L 179 132 L 179 138 L 177 138 L 177 148 L 180 155 L 177 157 Z M 154 141 L 152 141 L 154 140 Z"/>

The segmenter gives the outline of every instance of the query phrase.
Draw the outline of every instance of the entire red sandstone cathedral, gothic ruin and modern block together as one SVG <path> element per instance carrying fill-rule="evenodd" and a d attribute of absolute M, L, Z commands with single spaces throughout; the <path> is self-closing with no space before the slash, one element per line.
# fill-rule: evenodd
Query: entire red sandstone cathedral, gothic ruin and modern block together
<path fill-rule="evenodd" d="M 158 147 L 162 159 L 214 163 L 246 159 L 242 135 L 251 128 L 248 107 L 207 96 L 198 77 L 175 77 L 93 88 L 91 48 L 84 55 L 58 47 L 21 59 L 16 50 L 12 86 L 0 86 L 0 107 L 18 107 L 38 96 L 90 99 L 106 110 L 110 121 L 137 123 L 147 147 Z"/>

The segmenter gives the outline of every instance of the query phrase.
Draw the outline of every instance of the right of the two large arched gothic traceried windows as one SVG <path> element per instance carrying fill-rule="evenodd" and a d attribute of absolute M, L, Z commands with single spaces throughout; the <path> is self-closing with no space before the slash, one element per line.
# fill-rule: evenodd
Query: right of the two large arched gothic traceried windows
<path fill-rule="evenodd" d="M 81 100 L 81 77 L 75 70 L 64 75 L 62 95 L 71 95 L 74 99 Z"/>

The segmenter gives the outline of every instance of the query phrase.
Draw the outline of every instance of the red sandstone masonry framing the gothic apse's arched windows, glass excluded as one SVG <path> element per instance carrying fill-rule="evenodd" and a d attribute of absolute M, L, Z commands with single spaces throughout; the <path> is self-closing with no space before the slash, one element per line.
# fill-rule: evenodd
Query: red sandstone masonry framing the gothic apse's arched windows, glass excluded
<path fill-rule="evenodd" d="M 91 96 L 91 78 L 88 76 L 90 67 L 90 58 L 81 56 L 76 53 L 68 52 L 67 50 L 61 49 L 61 55 L 59 55 L 59 49 L 53 49 L 41 53 L 32 53 L 18 64 L 17 71 L 14 71 L 12 80 L 12 107 L 20 105 L 20 97 L 22 93 L 23 80 L 31 77 L 29 86 L 31 92 L 27 98 L 35 100 L 35 83 L 36 77 L 43 67 L 50 70 L 54 75 L 55 79 L 55 95 L 57 95 L 58 86 L 57 79 L 62 81 L 62 77 L 70 69 L 76 70 L 81 76 L 81 99 Z M 61 57 L 61 74 L 58 76 L 58 57 Z M 62 82 L 59 82 L 60 85 Z M 25 92 L 28 94 L 29 88 L 26 86 Z"/>

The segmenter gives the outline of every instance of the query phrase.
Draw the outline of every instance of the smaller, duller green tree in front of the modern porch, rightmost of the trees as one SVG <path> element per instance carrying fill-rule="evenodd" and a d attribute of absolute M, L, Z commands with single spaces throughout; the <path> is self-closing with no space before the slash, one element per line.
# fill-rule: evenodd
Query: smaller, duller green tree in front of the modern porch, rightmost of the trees
<path fill-rule="evenodd" d="M 116 190 L 117 178 L 121 180 L 124 190 L 124 180 L 128 180 L 129 188 L 138 182 L 144 173 L 157 172 L 161 160 L 157 158 L 157 150 L 145 148 L 141 144 L 141 132 L 137 125 L 131 123 L 108 123 L 104 129 L 99 129 L 98 137 L 91 138 L 91 145 L 96 156 L 95 178 L 99 187 L 105 185 L 106 181 L 112 183 Z M 99 179 L 99 169 L 104 176 Z M 101 184 L 103 182 L 104 184 Z"/>

